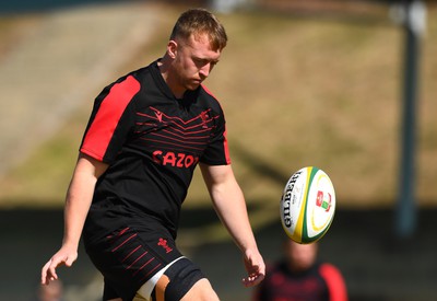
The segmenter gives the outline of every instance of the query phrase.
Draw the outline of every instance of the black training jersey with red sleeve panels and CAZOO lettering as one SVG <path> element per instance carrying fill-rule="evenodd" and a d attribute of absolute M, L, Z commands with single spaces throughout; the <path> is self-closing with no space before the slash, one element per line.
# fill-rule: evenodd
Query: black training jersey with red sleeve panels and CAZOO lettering
<path fill-rule="evenodd" d="M 176 99 L 157 61 L 103 90 L 80 150 L 109 164 L 97 181 L 85 235 L 133 220 L 157 222 L 176 238 L 198 162 L 231 163 L 218 102 L 202 85 Z"/>

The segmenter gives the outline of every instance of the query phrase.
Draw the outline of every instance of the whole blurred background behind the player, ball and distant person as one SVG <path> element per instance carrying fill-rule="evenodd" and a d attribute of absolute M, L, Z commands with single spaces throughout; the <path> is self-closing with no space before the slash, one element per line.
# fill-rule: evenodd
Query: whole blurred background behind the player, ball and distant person
<path fill-rule="evenodd" d="M 286 181 L 316 165 L 338 199 L 320 257 L 342 270 L 350 299 L 437 299 L 435 1 L 0 3 L 0 300 L 37 300 L 94 97 L 161 57 L 190 7 L 214 11 L 229 36 L 206 86 L 225 109 L 264 259 L 282 255 Z M 184 206 L 180 248 L 222 300 L 250 300 L 200 174 Z M 82 246 L 59 274 L 64 300 L 101 300 Z"/>

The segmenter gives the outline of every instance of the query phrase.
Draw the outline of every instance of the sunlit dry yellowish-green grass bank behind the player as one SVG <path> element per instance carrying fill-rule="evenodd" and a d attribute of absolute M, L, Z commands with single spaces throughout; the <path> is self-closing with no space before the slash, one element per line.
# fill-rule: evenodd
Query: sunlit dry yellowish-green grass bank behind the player
<path fill-rule="evenodd" d="M 170 27 L 176 16 L 163 21 Z M 418 106 L 417 198 L 437 205 L 437 21 L 428 11 Z M 275 208 L 286 178 L 316 165 L 340 207 L 391 206 L 398 197 L 403 43 L 389 22 L 366 24 L 260 13 L 221 15 L 229 44 L 206 85 L 226 112 L 233 165 L 249 204 Z M 160 57 L 168 33 L 120 73 Z M 92 101 L 92 100 L 90 100 Z M 0 204 L 59 206 L 91 103 L 0 182 Z M 208 195 L 196 174 L 188 205 Z M 32 204 L 28 204 L 32 201 Z"/>

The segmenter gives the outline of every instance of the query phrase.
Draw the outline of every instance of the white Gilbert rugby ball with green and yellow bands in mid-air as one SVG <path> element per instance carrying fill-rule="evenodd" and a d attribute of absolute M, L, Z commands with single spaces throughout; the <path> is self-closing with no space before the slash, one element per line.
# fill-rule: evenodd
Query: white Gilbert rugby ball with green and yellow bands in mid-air
<path fill-rule="evenodd" d="M 314 166 L 295 172 L 286 183 L 280 202 L 285 233 L 300 244 L 320 240 L 332 223 L 335 192 L 329 176 Z"/>

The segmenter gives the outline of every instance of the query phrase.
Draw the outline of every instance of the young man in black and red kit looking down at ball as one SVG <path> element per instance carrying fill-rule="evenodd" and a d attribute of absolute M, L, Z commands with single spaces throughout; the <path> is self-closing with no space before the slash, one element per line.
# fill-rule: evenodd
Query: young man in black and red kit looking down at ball
<path fill-rule="evenodd" d="M 214 208 L 240 248 L 246 287 L 264 277 L 243 193 L 228 157 L 225 119 L 202 85 L 226 46 L 202 9 L 182 13 L 163 58 L 97 96 L 67 195 L 61 248 L 42 283 L 71 266 L 83 235 L 105 280 L 104 300 L 218 300 L 175 245 L 179 212 L 199 164 Z"/>

